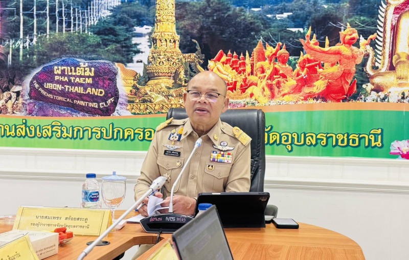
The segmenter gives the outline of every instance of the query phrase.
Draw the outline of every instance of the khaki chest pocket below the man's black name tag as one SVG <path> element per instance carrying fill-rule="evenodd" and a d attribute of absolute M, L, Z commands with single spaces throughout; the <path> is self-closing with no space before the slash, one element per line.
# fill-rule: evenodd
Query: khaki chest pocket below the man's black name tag
<path fill-rule="evenodd" d="M 158 156 L 157 165 L 159 165 L 159 171 L 161 176 L 165 176 L 170 181 L 165 182 L 165 189 L 169 192 L 172 189 L 173 183 L 176 181 L 177 177 L 180 174 L 181 169 L 183 168 L 184 158 L 169 158 L 168 156 Z M 176 184 L 174 191 L 176 192 L 179 189 L 180 181 Z"/>

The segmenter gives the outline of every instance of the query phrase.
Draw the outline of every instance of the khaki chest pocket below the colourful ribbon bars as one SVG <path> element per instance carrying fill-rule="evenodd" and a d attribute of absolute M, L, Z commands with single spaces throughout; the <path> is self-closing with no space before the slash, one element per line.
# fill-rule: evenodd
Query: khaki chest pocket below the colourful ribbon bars
<path fill-rule="evenodd" d="M 213 170 L 208 169 L 208 165 L 213 166 Z M 208 163 L 205 166 L 205 176 L 203 177 L 203 192 L 223 192 L 230 175 L 231 163 Z"/>

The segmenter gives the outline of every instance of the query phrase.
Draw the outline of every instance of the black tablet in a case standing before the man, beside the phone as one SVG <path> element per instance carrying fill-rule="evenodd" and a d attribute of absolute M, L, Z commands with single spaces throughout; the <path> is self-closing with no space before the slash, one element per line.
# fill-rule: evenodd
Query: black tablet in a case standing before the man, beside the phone
<path fill-rule="evenodd" d="M 264 210 L 268 192 L 203 192 L 197 197 L 196 212 L 200 203 L 216 205 L 221 224 L 227 228 L 265 227 Z"/>

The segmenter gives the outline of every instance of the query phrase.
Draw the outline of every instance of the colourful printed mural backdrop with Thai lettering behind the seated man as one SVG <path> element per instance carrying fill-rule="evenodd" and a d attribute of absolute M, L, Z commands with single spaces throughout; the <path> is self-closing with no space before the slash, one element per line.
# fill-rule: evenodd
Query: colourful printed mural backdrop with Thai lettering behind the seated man
<path fill-rule="evenodd" d="M 191 77 L 267 155 L 409 159 L 409 0 L 0 1 L 0 146 L 147 150 Z"/>

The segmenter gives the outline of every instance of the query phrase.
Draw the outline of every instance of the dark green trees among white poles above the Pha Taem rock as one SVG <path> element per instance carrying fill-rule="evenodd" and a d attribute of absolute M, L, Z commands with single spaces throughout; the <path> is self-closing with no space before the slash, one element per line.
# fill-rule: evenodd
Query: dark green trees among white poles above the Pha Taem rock
<path fill-rule="evenodd" d="M 18 12 L 12 12 L 19 8 L 19 2 L 8 3 L 7 10 L 11 11 L 7 15 L 5 38 L 8 44 L 12 42 L 13 46 L 10 69 L 28 73 L 30 69 L 62 56 L 130 62 L 134 54 L 140 52 L 138 47 L 132 44 L 133 27 L 153 23 L 149 8 L 139 3 L 121 4 L 109 9 L 112 15 L 100 17 L 98 23 L 90 23 L 84 16 L 84 10 L 87 10 L 90 2 L 90 0 L 73 0 L 67 4 L 60 1 L 61 8 L 64 6 L 66 13 L 64 19 L 59 17 L 58 32 L 55 4 L 50 5 L 49 12 L 53 15 L 50 15 L 49 35 L 47 35 L 46 15 L 43 12 L 46 10 L 46 1 L 37 1 L 35 39 L 33 2 L 23 2 L 23 39 L 20 38 L 20 16 Z M 74 8 L 72 14 L 79 13 L 81 17 L 72 18 L 71 7 Z M 62 11 L 59 12 L 62 16 Z M 64 26 L 63 21 L 65 21 Z M 65 29 L 64 32 L 63 29 Z M 88 35 L 90 32 L 92 35 Z M 95 42 L 99 42 L 99 46 L 95 45 Z M 20 44 L 24 46 L 22 57 L 19 55 Z M 49 48 L 49 51 L 46 48 Z"/>

